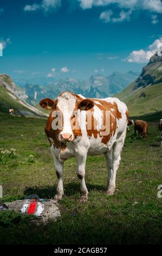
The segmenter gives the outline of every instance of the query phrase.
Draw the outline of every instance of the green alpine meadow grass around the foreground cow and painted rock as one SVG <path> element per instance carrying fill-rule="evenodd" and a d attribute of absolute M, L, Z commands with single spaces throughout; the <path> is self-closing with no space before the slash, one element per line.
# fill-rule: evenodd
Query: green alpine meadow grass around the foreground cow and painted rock
<path fill-rule="evenodd" d="M 16 149 L 16 157 L 7 164 L 0 163 L 2 202 L 23 199 L 31 193 L 53 198 L 57 178 L 44 135 L 46 120 L 0 114 L 0 121 L 0 148 Z M 114 196 L 105 193 L 105 158 L 88 156 L 89 201 L 81 204 L 76 162 L 69 159 L 64 164 L 65 196 L 57 222 L 37 226 L 28 216 L 0 211 L 0 243 L 161 243 L 162 198 L 157 197 L 157 188 L 162 181 L 162 157 L 157 121 L 150 120 L 148 133 L 146 141 L 134 139 L 133 127 L 127 133 Z"/>

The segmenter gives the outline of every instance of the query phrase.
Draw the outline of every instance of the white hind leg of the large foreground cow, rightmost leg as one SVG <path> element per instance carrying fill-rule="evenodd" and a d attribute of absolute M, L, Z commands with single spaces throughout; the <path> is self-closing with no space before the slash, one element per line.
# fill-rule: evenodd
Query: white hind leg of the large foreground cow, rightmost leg
<path fill-rule="evenodd" d="M 116 182 L 116 172 L 119 168 L 119 163 L 121 160 L 120 154 L 122 147 L 124 145 L 126 133 L 124 132 L 119 139 L 114 143 L 113 149 L 112 149 L 112 171 L 111 174 L 109 174 L 109 184 L 107 189 L 107 194 L 112 195 L 115 191 L 115 182 Z"/>

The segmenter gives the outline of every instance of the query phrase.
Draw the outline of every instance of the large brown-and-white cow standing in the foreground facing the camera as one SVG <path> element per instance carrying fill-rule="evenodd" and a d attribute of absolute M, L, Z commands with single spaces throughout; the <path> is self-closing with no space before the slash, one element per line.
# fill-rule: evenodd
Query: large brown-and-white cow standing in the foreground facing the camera
<path fill-rule="evenodd" d="M 45 131 L 58 178 L 55 199 L 63 196 L 63 162 L 75 156 L 76 174 L 81 182 L 81 202 L 88 200 L 86 158 L 87 155 L 102 153 L 109 172 L 107 194 L 113 194 L 127 130 L 125 103 L 115 97 L 86 99 L 82 95 L 62 92 L 55 100 L 41 100 L 40 106 L 51 111 Z"/>

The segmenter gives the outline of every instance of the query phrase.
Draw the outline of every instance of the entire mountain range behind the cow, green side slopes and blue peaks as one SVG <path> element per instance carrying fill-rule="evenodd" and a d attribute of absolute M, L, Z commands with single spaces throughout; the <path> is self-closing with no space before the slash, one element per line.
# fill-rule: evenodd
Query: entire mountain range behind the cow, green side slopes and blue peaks
<path fill-rule="evenodd" d="M 126 103 L 130 116 L 137 117 L 157 112 L 161 117 L 162 56 L 154 54 L 137 76 L 138 74 L 133 71 L 127 74 L 114 72 L 111 76 L 96 74 L 85 81 L 66 78 L 58 81 L 46 80 L 45 84 L 19 81 L 16 85 L 8 75 L 2 74 L 0 112 L 9 113 L 9 108 L 14 108 L 16 114 L 46 117 L 49 113 L 42 109 L 38 102 L 43 97 L 54 99 L 63 90 L 68 90 L 87 97 L 102 98 L 113 95 Z M 129 86 L 126 87 L 126 84 Z"/>

